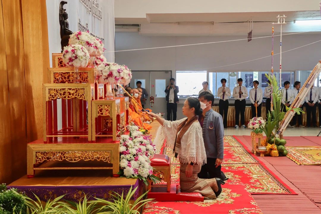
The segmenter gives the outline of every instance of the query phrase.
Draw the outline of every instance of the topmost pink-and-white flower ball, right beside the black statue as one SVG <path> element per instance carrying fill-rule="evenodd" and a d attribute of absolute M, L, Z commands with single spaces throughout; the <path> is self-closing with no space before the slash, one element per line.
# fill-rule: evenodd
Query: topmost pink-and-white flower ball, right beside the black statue
<path fill-rule="evenodd" d="M 77 31 L 70 35 L 69 45 L 82 45 L 87 49 L 90 56 L 95 56 L 97 54 L 97 47 L 95 46 L 95 41 L 96 38 L 91 36 L 89 34 L 89 31 Z"/>

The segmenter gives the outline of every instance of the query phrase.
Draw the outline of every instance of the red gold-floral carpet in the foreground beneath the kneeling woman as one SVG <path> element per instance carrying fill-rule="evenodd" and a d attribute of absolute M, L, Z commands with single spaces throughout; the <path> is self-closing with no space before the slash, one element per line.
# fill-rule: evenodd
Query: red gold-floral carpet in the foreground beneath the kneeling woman
<path fill-rule="evenodd" d="M 143 214 L 263 214 L 239 179 L 223 185 L 217 200 L 204 202 L 150 202 Z"/>

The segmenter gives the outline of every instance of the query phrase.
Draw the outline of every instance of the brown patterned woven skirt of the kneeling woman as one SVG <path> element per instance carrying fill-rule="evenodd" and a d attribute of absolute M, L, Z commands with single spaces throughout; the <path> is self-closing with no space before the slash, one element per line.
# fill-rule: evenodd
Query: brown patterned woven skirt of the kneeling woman
<path fill-rule="evenodd" d="M 201 193 L 204 197 L 210 199 L 216 199 L 215 193 L 206 182 L 206 179 L 198 178 L 197 174 L 201 171 L 202 165 L 193 166 L 193 175 L 191 177 L 186 177 L 185 170 L 187 164 L 180 164 L 179 169 L 179 185 L 181 192 L 197 192 Z"/>

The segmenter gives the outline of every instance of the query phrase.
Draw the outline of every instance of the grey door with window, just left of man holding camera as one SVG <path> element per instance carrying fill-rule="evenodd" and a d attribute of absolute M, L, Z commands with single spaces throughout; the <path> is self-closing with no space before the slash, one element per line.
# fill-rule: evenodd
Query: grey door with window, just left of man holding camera
<path fill-rule="evenodd" d="M 154 113 L 165 113 L 167 118 L 167 103 L 165 88 L 172 76 L 171 71 L 151 71 L 151 96 L 154 97 L 154 104 L 151 109 Z"/>

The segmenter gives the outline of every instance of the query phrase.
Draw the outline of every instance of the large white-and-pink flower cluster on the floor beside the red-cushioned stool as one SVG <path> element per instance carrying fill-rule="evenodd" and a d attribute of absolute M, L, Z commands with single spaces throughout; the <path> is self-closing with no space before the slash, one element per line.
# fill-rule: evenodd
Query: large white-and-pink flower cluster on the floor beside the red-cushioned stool
<path fill-rule="evenodd" d="M 147 178 L 153 182 L 159 178 L 153 175 L 150 156 L 156 151 L 150 136 L 143 136 L 138 126 L 129 125 L 130 135 L 120 136 L 120 175 L 127 178 L 139 178 L 148 184 Z"/>

